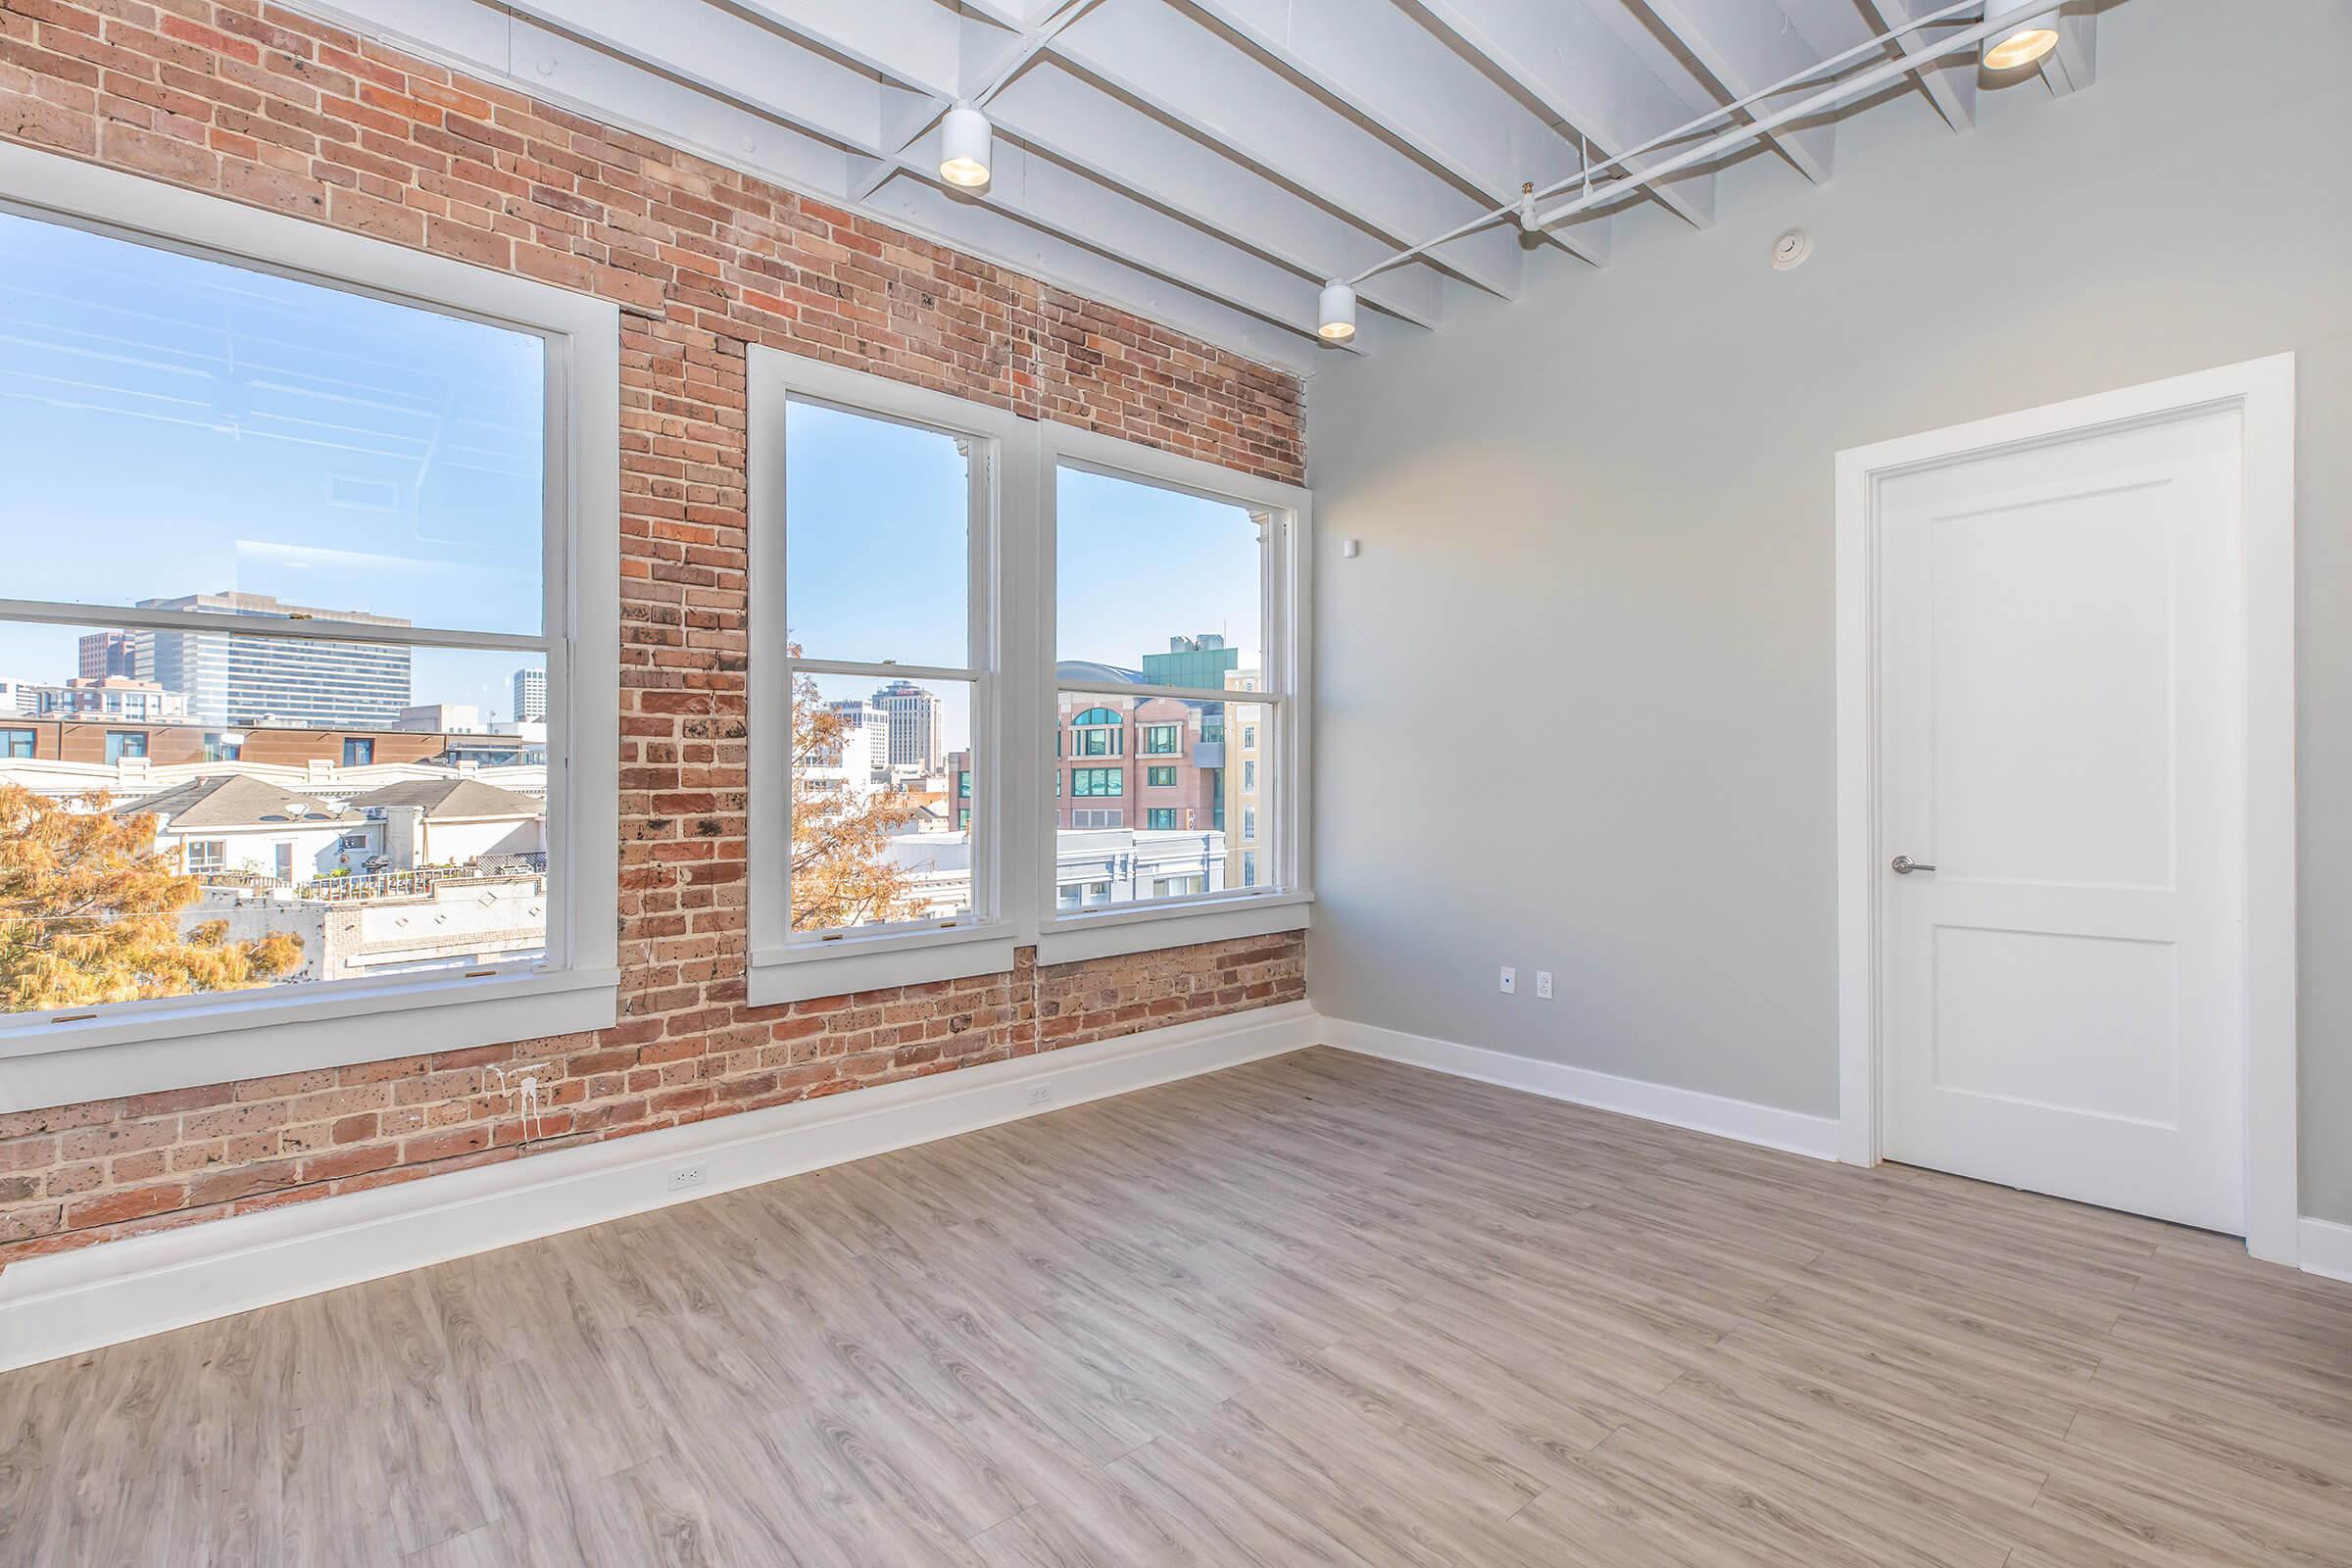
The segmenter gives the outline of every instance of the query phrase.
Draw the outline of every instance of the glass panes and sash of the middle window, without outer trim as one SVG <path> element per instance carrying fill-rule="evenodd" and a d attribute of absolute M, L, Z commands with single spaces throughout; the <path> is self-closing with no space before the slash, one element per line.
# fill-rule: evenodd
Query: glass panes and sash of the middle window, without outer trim
<path fill-rule="evenodd" d="M 990 503 L 983 437 L 786 397 L 788 940 L 993 912 Z"/>

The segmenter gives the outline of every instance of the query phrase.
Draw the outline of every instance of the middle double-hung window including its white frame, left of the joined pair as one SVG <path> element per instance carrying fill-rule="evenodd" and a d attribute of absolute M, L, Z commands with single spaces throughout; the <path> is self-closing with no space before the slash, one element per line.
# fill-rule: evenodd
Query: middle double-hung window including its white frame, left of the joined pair
<path fill-rule="evenodd" d="M 1009 969 L 997 599 L 1023 430 L 750 364 L 753 1001 Z"/>

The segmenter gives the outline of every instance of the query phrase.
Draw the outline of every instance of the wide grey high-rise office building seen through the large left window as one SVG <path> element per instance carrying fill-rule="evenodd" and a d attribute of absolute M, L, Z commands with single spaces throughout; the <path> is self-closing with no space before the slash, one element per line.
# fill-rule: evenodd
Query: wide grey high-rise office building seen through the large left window
<path fill-rule="evenodd" d="M 360 621 L 393 616 L 282 604 L 266 592 L 193 592 L 141 599 L 139 609 L 200 609 L 216 616 Z M 188 715 L 212 724 L 374 724 L 395 729 L 409 708 L 409 649 L 386 642 L 238 637 L 228 630 L 139 632 L 143 677 L 188 698 Z"/>

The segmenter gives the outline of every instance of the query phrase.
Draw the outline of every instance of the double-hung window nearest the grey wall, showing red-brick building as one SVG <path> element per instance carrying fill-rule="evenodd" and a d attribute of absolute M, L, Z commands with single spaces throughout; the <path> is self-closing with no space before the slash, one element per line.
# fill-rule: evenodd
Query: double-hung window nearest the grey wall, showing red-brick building
<path fill-rule="evenodd" d="M 1080 719 L 1122 719 L 1152 792 L 1134 818 L 1150 837 L 1120 865 L 1110 900 L 1044 907 L 1040 957 L 1305 924 L 1305 494 L 1047 425 L 1040 496 L 1049 722 L 1075 736 Z M 1254 750 L 1247 851 L 1228 835 L 1244 806 L 1235 733 Z M 1040 858 L 1056 886 L 1101 856 L 1098 835 L 1061 842 L 1089 785 L 1075 769 L 1047 804 L 1054 842 Z"/>

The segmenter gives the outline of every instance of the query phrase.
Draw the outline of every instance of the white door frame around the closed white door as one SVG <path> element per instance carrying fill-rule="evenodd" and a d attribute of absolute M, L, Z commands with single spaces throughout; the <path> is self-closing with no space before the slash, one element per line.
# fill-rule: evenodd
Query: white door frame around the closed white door
<path fill-rule="evenodd" d="M 1837 454 L 1837 1157 L 1879 1161 L 1879 482 L 2213 409 L 2244 416 L 2246 1251 L 2296 1262 L 2296 355 Z"/>

